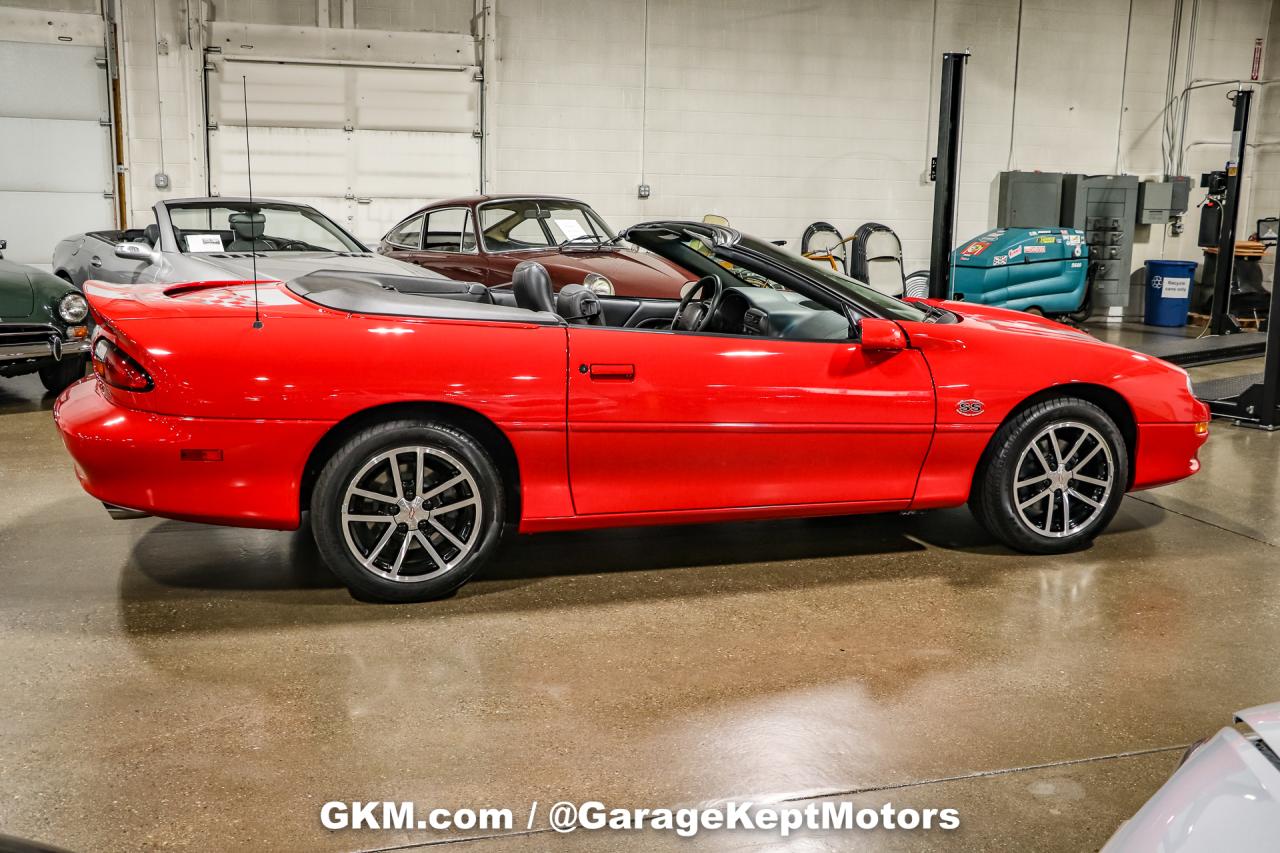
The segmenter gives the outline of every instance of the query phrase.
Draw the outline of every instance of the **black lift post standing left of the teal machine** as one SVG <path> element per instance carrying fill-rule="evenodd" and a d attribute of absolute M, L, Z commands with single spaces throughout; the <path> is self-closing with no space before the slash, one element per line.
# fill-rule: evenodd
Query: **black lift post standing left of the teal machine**
<path fill-rule="evenodd" d="M 933 158 L 933 242 L 929 246 L 929 296 L 951 298 L 951 250 L 955 247 L 956 193 L 960 186 L 960 117 L 964 67 L 969 53 L 942 54 L 938 92 L 938 152 Z"/>

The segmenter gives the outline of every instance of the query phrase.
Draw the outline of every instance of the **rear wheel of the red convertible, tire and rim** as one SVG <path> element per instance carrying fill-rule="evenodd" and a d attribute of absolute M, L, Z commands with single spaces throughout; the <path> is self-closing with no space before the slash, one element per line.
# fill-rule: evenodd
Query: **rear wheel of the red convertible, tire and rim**
<path fill-rule="evenodd" d="M 398 485 L 390 479 L 392 459 Z M 449 482 L 457 484 L 445 488 Z M 404 500 L 410 494 L 412 505 Z M 435 515 L 472 498 L 477 502 Z M 311 529 L 320 555 L 355 597 L 428 601 L 453 593 L 488 562 L 502 539 L 504 507 L 502 475 L 475 438 L 447 423 L 392 420 L 360 430 L 325 464 L 311 496 Z M 390 520 L 344 521 L 344 511 Z"/>

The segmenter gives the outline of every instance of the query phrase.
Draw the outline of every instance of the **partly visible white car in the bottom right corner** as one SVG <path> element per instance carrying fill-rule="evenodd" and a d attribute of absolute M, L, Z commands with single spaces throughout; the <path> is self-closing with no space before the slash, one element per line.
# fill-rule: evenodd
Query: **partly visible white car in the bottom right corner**
<path fill-rule="evenodd" d="M 1280 702 L 1238 711 L 1192 744 L 1169 781 L 1102 853 L 1272 853 L 1280 849 Z"/>

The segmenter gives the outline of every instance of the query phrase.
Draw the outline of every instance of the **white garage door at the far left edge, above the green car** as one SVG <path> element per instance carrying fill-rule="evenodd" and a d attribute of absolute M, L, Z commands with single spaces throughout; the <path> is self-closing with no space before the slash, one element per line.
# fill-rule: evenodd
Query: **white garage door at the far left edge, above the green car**
<path fill-rule="evenodd" d="M 0 41 L 0 240 L 47 268 L 54 245 L 110 228 L 111 128 L 102 49 Z"/>

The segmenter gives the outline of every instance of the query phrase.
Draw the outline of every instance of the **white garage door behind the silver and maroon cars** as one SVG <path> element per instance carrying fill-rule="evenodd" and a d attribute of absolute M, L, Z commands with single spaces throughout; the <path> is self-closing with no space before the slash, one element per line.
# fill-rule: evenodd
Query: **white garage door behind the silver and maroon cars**
<path fill-rule="evenodd" d="M 366 243 L 408 213 L 480 187 L 476 68 L 440 70 L 211 56 L 214 195 L 314 205 Z"/>

